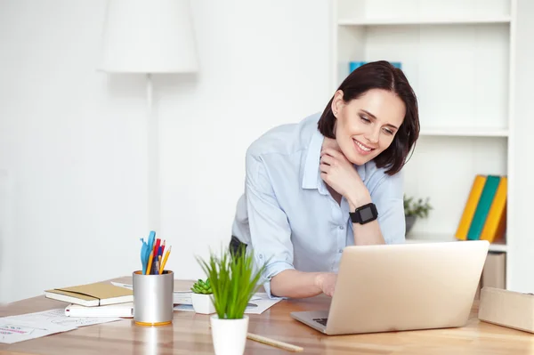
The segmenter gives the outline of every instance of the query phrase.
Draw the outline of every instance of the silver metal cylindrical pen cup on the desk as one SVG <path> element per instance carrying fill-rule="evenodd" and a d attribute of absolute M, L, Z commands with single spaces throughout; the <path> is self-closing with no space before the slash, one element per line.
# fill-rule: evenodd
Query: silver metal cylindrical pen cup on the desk
<path fill-rule="evenodd" d="M 173 322 L 174 272 L 157 275 L 134 271 L 134 322 L 139 326 L 165 326 Z"/>

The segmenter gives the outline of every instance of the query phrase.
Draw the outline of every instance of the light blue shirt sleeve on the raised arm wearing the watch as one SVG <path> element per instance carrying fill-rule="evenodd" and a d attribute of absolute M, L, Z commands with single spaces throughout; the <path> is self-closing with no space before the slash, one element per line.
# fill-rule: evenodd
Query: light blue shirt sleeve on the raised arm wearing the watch
<path fill-rule="evenodd" d="M 371 192 L 371 199 L 378 211 L 378 224 L 385 244 L 401 244 L 405 241 L 404 173 L 402 170 L 384 177 Z"/>

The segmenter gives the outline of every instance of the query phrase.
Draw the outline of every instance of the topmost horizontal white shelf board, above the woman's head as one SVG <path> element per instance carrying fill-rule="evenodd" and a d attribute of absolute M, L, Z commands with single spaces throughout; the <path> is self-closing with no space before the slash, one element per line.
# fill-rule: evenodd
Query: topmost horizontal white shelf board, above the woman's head
<path fill-rule="evenodd" d="M 510 23 L 509 16 L 498 16 L 489 18 L 405 18 L 405 19 L 340 19 L 337 24 L 340 26 L 396 26 L 396 25 L 469 25 L 469 24 L 490 24 L 490 23 Z"/>

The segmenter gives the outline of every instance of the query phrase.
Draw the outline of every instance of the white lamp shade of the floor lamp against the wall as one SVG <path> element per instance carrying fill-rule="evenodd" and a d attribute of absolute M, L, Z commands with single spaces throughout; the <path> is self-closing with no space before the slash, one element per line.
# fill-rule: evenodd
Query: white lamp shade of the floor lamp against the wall
<path fill-rule="evenodd" d="M 189 0 L 109 0 L 101 55 L 106 72 L 197 71 Z"/>

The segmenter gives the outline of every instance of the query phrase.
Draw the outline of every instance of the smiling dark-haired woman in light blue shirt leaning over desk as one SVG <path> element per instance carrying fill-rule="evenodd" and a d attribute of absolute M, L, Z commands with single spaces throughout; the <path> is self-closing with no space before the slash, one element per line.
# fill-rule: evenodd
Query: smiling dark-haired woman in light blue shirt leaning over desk
<path fill-rule="evenodd" d="M 321 115 L 251 144 L 231 247 L 266 264 L 268 294 L 331 296 L 344 246 L 404 242 L 401 168 L 418 134 L 407 78 L 376 61 L 352 71 Z"/>

